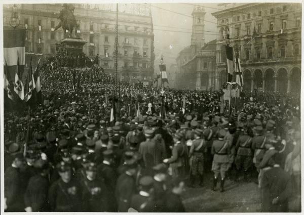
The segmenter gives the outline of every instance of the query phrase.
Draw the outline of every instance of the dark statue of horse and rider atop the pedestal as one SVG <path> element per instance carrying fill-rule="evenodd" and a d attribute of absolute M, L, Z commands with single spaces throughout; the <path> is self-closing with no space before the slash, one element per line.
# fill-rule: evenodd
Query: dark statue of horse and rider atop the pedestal
<path fill-rule="evenodd" d="M 63 7 L 64 8 L 60 11 L 60 15 L 58 17 L 58 19 L 60 19 L 60 22 L 55 27 L 54 31 L 62 27 L 64 35 L 66 35 L 66 30 L 68 30 L 68 36 L 73 37 L 72 32 L 75 30 L 75 37 L 77 37 L 77 23 L 74 16 L 75 8 L 71 4 L 63 4 Z"/>

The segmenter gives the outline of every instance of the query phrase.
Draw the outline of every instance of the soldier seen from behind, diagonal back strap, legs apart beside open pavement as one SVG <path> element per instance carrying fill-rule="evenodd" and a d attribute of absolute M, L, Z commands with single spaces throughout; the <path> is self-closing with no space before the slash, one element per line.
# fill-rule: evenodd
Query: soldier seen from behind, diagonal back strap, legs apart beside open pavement
<path fill-rule="evenodd" d="M 214 180 L 212 190 L 215 190 L 217 178 L 220 174 L 220 192 L 224 191 L 225 173 L 228 170 L 230 145 L 228 141 L 224 141 L 226 131 L 221 129 L 218 132 L 218 140 L 213 141 L 211 153 L 214 154 L 212 162 L 212 170 L 214 172 Z"/>

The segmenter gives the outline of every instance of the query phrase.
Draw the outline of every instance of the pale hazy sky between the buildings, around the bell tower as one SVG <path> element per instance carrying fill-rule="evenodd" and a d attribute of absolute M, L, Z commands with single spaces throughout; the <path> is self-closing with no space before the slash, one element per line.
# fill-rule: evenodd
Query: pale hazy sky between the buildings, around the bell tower
<path fill-rule="evenodd" d="M 161 3 L 151 4 L 154 24 L 155 72 L 159 72 L 160 56 L 163 53 L 165 64 L 176 63 L 178 53 L 191 44 L 192 12 L 198 3 Z M 215 39 L 216 19 L 211 13 L 218 11 L 217 4 L 201 4 L 205 6 L 205 42 Z M 210 7 L 210 8 L 207 8 Z M 160 9 L 162 8 L 162 9 Z M 163 10 L 165 9 L 165 10 Z M 170 12 L 172 11 L 172 12 Z M 176 12 L 176 13 L 174 13 Z M 178 14 L 177 14 L 178 13 Z M 213 35 L 212 35 L 213 34 Z M 170 47 L 170 45 L 172 45 Z"/>

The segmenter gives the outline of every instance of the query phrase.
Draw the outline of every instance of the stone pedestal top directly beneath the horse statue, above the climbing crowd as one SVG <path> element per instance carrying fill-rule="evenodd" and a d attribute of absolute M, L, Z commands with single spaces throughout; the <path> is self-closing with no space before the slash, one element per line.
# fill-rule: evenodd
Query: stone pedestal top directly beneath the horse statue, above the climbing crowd
<path fill-rule="evenodd" d="M 83 38 L 77 37 L 68 37 L 61 39 L 57 45 L 57 52 L 66 52 L 67 55 L 69 54 L 82 54 L 83 53 L 83 46 L 87 43 L 86 40 Z"/>

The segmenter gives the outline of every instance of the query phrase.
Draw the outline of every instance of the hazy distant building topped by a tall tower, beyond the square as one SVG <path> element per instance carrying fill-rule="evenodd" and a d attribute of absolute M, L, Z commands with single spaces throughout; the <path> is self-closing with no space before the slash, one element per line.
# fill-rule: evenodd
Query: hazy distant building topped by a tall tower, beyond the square
<path fill-rule="evenodd" d="M 176 59 L 179 70 L 179 88 L 214 89 L 216 40 L 205 44 L 205 14 L 203 7 L 195 7 L 192 13 L 191 46 L 182 50 Z"/>

